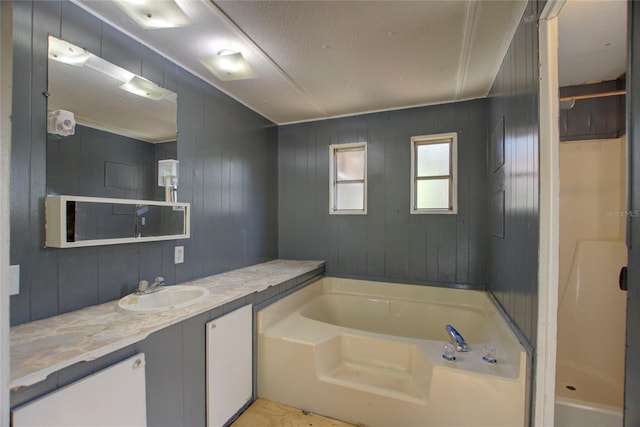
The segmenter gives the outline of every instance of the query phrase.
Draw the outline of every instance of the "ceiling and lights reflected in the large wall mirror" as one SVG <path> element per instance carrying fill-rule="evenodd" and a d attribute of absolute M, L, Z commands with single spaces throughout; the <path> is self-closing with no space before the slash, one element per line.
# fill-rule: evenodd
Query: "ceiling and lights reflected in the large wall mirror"
<path fill-rule="evenodd" d="M 146 142 L 176 140 L 177 95 L 64 40 L 49 37 L 48 113 Z"/>

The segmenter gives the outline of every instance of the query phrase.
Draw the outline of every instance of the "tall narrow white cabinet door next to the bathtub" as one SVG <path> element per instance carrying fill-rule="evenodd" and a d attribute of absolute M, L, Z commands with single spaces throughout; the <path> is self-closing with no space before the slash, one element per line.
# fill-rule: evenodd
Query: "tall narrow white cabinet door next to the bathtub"
<path fill-rule="evenodd" d="M 207 425 L 224 425 L 251 400 L 251 305 L 207 323 Z"/>

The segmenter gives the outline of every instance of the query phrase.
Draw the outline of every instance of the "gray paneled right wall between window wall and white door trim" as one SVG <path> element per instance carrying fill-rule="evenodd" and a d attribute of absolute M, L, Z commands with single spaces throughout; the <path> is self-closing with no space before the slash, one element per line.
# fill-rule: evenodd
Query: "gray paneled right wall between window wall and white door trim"
<path fill-rule="evenodd" d="M 531 345 L 536 342 L 538 318 L 537 17 L 541 8 L 542 4 L 530 1 L 520 21 L 491 89 L 488 124 L 492 153 L 488 286 Z M 499 137 L 502 126 L 504 138 Z M 504 164 L 498 167 L 495 158 L 500 152 Z"/>

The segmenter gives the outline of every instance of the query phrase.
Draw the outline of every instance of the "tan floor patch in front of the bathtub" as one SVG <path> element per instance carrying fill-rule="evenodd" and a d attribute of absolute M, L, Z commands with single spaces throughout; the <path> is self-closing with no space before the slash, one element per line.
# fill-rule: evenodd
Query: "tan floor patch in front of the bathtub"
<path fill-rule="evenodd" d="M 270 400 L 258 399 L 230 427 L 355 427 Z"/>

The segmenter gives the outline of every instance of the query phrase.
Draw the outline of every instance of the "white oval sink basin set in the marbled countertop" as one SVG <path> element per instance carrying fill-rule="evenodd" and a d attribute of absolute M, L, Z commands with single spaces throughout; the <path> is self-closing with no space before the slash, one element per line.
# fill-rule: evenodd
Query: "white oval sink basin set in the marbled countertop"
<path fill-rule="evenodd" d="M 207 288 L 199 286 L 167 286 L 150 294 L 127 295 L 118 301 L 116 310 L 121 313 L 157 313 L 187 307 L 199 302 L 207 295 L 209 295 Z"/>

